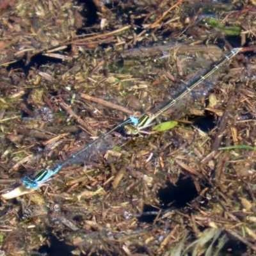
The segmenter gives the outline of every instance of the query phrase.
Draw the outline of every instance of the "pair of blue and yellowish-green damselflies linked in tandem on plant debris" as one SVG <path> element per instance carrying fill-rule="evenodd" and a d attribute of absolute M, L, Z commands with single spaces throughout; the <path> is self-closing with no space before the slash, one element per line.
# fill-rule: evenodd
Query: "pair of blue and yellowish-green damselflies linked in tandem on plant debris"
<path fill-rule="evenodd" d="M 225 56 L 223 59 L 220 60 L 219 63 L 214 65 L 210 70 L 206 71 L 203 76 L 200 76 L 198 79 L 196 79 L 193 83 L 191 83 L 189 86 L 184 88 L 182 92 L 178 93 L 173 99 L 168 100 L 156 113 L 145 113 L 140 116 L 140 118 L 136 118 L 134 116 L 131 116 L 127 118 L 124 122 L 121 122 L 120 124 L 116 125 L 111 129 L 110 131 L 102 134 L 99 138 L 92 141 L 92 143 L 85 145 L 81 150 L 77 151 L 72 156 L 68 157 L 67 160 L 63 161 L 62 163 L 58 164 L 55 168 L 52 169 L 44 169 L 40 172 L 38 172 L 33 177 L 24 177 L 22 179 L 22 183 L 26 186 L 26 188 L 36 189 L 38 186 L 42 183 L 44 183 L 46 180 L 48 180 L 52 175 L 56 174 L 63 168 L 63 166 L 67 165 L 77 157 L 81 156 L 81 154 L 91 148 L 93 145 L 98 143 L 100 140 L 103 140 L 108 134 L 110 134 L 113 131 L 116 131 L 120 127 L 125 127 L 125 131 L 127 134 L 138 134 L 141 130 L 145 129 L 145 127 L 148 127 L 152 122 L 157 118 L 157 116 L 161 115 L 164 111 L 171 108 L 177 102 L 179 102 L 180 99 L 184 98 L 184 96 L 188 95 L 193 89 L 198 86 L 198 84 L 202 83 L 207 79 L 207 77 L 211 76 L 218 68 L 220 68 L 222 65 L 224 65 L 228 60 L 236 56 L 236 54 L 240 51 L 240 48 L 233 49 L 230 51 L 227 56 Z"/>

